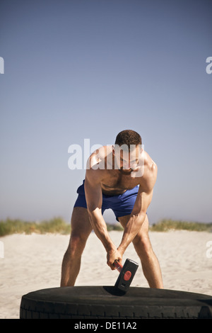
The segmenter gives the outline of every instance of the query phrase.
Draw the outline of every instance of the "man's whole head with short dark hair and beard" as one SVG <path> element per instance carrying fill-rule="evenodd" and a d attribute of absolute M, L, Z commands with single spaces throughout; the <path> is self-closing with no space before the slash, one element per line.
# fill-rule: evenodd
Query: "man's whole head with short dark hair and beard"
<path fill-rule="evenodd" d="M 141 135 L 134 130 L 122 130 L 116 137 L 113 149 L 114 160 L 122 174 L 131 174 L 139 165 Z"/>

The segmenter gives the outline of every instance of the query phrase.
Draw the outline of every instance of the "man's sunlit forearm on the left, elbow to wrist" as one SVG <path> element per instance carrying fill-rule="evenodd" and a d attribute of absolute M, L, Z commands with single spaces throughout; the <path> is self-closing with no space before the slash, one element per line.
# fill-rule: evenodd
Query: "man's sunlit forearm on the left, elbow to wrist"
<path fill-rule="evenodd" d="M 96 208 L 93 211 L 88 211 L 88 214 L 95 235 L 97 235 L 97 237 L 100 239 L 106 251 L 109 252 L 116 249 L 112 242 L 112 239 L 107 232 L 107 225 L 104 218 L 102 217 L 102 213 L 100 212 L 100 210 Z"/>

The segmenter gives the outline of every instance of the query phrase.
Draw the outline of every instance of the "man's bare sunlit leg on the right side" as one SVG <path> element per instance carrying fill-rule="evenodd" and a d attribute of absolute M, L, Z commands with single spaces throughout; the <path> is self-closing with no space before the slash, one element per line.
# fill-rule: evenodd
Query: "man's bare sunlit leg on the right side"
<path fill-rule="evenodd" d="M 119 218 L 122 226 L 125 227 L 126 223 L 129 221 L 130 216 L 123 216 Z M 163 280 L 160 271 L 160 264 L 158 262 L 153 248 L 151 246 L 151 241 L 148 237 L 148 217 L 143 222 L 143 225 L 133 240 L 134 248 L 141 259 L 141 265 L 143 269 L 143 274 L 148 281 L 148 285 L 151 288 L 163 288 Z"/>

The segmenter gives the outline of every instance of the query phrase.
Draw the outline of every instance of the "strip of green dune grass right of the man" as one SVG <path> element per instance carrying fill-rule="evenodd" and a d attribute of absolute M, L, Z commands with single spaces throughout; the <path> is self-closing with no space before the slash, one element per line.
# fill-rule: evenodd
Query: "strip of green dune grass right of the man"
<path fill-rule="evenodd" d="M 212 232 L 212 223 L 160 220 L 150 227 L 151 231 L 165 232 L 169 230 L 189 230 Z"/>

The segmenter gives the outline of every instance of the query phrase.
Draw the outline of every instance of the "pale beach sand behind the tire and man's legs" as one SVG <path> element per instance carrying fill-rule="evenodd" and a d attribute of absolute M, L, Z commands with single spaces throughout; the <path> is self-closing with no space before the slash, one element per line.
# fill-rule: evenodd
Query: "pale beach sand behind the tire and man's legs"
<path fill-rule="evenodd" d="M 110 232 L 117 246 L 122 232 Z M 165 289 L 212 295 L 212 258 L 206 244 L 208 232 L 150 232 L 153 250 L 160 261 Z M 4 258 L 0 257 L 0 319 L 18 319 L 21 296 L 30 291 L 58 287 L 61 261 L 69 243 L 67 235 L 10 235 L 1 237 Z M 2 245 L 2 243 L 1 243 Z M 131 286 L 148 287 L 141 263 L 132 244 L 124 254 L 139 263 Z M 83 252 L 76 286 L 113 286 L 118 271 L 106 264 L 106 252 L 94 233 Z"/>

